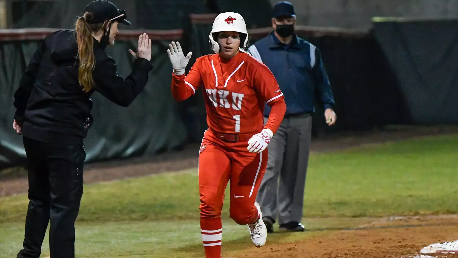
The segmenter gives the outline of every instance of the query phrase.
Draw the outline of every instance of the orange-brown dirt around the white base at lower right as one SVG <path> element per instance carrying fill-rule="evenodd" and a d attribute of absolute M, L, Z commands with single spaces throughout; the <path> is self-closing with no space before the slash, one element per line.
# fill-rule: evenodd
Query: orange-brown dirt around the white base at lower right
<path fill-rule="evenodd" d="M 352 230 L 320 232 L 294 243 L 268 243 L 261 249 L 232 254 L 234 258 L 457 258 L 458 254 L 420 253 L 436 242 L 458 239 L 458 216 L 376 219 Z M 304 233 L 294 233 L 304 234 Z"/>

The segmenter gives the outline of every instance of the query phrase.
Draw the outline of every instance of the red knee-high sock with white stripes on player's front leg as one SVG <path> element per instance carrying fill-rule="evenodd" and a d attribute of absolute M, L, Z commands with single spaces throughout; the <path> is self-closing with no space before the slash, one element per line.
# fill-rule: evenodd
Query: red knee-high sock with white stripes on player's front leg
<path fill-rule="evenodd" d="M 221 218 L 201 217 L 202 243 L 206 258 L 221 258 L 222 232 Z"/>

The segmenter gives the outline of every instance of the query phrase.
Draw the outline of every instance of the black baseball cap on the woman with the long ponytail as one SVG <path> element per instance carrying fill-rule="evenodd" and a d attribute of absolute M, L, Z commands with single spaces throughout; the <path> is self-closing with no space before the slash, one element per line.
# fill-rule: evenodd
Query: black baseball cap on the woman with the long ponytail
<path fill-rule="evenodd" d="M 95 0 L 86 6 L 84 11 L 90 11 L 93 15 L 89 23 L 102 23 L 106 21 L 118 21 L 125 25 L 131 25 L 127 20 L 125 10 L 119 10 L 108 0 Z"/>

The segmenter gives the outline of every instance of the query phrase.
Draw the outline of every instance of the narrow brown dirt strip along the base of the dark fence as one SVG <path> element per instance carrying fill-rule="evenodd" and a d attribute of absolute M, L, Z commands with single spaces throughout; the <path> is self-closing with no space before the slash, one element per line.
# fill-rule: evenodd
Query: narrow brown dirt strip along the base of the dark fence
<path fill-rule="evenodd" d="M 366 144 L 442 134 L 458 134 L 458 126 L 392 126 L 372 132 L 327 135 L 313 139 L 311 151 L 336 151 Z M 190 145 L 183 151 L 166 153 L 156 157 L 87 164 L 84 171 L 84 183 L 196 168 L 198 150 L 199 145 Z M 27 184 L 27 172 L 24 168 L 10 168 L 0 171 L 0 197 L 27 192 Z"/>

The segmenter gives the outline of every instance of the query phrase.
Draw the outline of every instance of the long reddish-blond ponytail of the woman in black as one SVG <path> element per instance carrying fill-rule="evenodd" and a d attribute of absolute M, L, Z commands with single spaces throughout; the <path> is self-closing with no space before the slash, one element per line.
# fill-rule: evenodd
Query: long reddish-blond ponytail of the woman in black
<path fill-rule="evenodd" d="M 101 30 L 104 23 L 89 24 L 92 13 L 85 12 L 82 17 L 76 20 L 76 44 L 78 45 L 78 82 L 83 86 L 85 92 L 92 89 L 94 81 L 92 72 L 95 67 L 93 33 Z"/>

